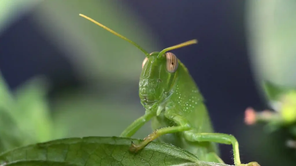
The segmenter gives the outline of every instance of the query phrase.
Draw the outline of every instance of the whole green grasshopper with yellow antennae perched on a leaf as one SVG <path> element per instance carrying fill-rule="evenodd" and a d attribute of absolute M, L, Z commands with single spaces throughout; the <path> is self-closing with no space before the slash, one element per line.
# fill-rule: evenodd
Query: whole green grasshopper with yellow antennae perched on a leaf
<path fill-rule="evenodd" d="M 139 96 L 146 111 L 120 136 L 133 136 L 149 120 L 152 120 L 152 128 L 155 131 L 139 144 L 132 142 L 130 151 L 137 152 L 158 138 L 160 141 L 188 150 L 200 160 L 224 163 L 218 157 L 219 150 L 216 143 L 232 144 L 235 165 L 259 166 L 257 162 L 241 164 L 239 144 L 234 136 L 213 133 L 210 117 L 197 85 L 184 64 L 173 53 L 167 52 L 196 44 L 197 40 L 190 40 L 149 54 L 126 37 L 83 14 L 79 15 L 135 45 L 146 56 L 142 63 L 139 82 Z"/>

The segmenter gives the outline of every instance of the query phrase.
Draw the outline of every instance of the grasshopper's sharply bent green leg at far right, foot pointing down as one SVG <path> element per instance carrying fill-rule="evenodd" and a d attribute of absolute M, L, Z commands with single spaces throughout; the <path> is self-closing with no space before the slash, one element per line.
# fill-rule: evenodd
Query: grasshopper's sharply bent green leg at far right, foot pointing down
<path fill-rule="evenodd" d="M 234 165 L 240 165 L 240 157 L 239 157 L 239 144 L 237 139 L 228 134 L 223 133 L 192 133 L 185 131 L 185 137 L 190 141 L 207 141 L 207 142 L 216 142 L 220 144 L 232 144 L 233 147 L 233 156 L 234 156 Z M 249 163 L 250 164 L 250 163 Z M 252 164 L 252 162 L 251 162 Z M 243 165 L 240 165 L 243 166 Z"/>

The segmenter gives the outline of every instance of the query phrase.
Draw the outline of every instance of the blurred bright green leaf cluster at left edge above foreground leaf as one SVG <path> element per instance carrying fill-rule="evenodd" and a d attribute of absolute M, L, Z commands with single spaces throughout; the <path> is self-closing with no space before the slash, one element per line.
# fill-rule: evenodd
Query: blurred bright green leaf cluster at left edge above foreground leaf
<path fill-rule="evenodd" d="M 53 121 L 46 93 L 44 79 L 36 77 L 22 84 L 13 94 L 0 74 L 1 151 L 53 139 Z"/>

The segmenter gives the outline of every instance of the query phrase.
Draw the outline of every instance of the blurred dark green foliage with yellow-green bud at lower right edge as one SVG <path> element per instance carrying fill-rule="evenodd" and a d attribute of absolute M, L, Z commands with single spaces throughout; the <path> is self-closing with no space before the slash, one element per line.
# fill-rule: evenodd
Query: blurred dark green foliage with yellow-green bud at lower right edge
<path fill-rule="evenodd" d="M 296 90 L 269 81 L 262 85 L 273 110 L 256 111 L 255 125 L 236 126 L 242 133 L 237 136 L 242 140 L 240 146 L 259 163 L 295 165 L 296 146 L 288 144 L 296 141 Z"/>

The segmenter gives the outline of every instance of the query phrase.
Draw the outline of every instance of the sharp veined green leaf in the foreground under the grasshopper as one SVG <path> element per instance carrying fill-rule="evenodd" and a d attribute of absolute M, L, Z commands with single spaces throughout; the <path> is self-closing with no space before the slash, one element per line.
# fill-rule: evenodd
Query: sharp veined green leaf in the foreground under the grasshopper
<path fill-rule="evenodd" d="M 20 147 L 0 154 L 0 164 L 7 165 L 196 165 L 229 166 L 199 161 L 183 149 L 158 142 L 149 143 L 138 153 L 130 152 L 131 141 L 120 137 L 67 138 Z M 21 161 L 21 162 L 17 162 Z M 42 164 L 41 162 L 44 162 Z"/>

